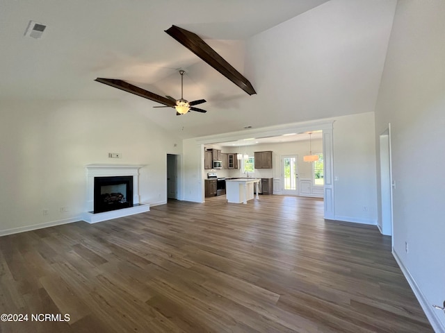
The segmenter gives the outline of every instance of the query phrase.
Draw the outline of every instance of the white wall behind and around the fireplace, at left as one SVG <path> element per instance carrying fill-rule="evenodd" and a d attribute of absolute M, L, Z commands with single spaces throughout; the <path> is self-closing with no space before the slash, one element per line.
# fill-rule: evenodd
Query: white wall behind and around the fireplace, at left
<path fill-rule="evenodd" d="M 119 101 L 3 101 L 0 112 L 0 234 L 77 221 L 85 210 L 86 164 L 146 164 L 140 202 L 165 202 L 166 154 L 181 155 L 181 140 Z"/>

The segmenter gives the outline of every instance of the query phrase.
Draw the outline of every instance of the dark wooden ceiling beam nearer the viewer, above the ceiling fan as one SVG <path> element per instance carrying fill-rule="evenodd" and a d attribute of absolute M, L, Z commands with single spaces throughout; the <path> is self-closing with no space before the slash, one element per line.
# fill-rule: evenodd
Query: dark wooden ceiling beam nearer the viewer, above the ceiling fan
<path fill-rule="evenodd" d="M 171 26 L 165 33 L 175 38 L 179 43 L 186 46 L 187 49 L 195 53 L 196 56 L 207 62 L 211 67 L 231 80 L 235 85 L 243 89 L 249 95 L 257 94 L 252 84 L 239 71 L 234 69 L 223 57 L 221 57 L 209 44 L 195 33 L 191 33 L 178 26 Z"/>

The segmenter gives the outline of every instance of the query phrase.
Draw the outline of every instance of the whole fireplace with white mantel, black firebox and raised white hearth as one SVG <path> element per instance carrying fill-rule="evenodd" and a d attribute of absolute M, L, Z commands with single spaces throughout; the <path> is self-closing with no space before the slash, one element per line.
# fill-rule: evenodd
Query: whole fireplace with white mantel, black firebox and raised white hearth
<path fill-rule="evenodd" d="M 135 164 L 88 164 L 83 221 L 97 223 L 149 212 L 149 204 L 139 201 L 139 169 L 143 167 Z"/>

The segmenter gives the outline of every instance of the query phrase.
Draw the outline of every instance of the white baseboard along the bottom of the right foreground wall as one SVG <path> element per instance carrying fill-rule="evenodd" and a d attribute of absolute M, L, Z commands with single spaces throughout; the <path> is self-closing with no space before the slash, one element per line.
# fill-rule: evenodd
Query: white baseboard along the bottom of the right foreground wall
<path fill-rule="evenodd" d="M 426 318 L 428 318 L 428 321 L 430 321 L 432 329 L 435 332 L 445 332 L 445 326 L 442 325 L 441 321 L 439 320 L 439 317 L 437 316 L 441 312 L 434 309 L 432 305 L 428 302 L 425 295 L 423 295 L 421 289 L 419 288 L 419 285 L 416 283 L 416 280 L 414 280 L 410 271 L 408 271 L 408 269 L 402 263 L 401 258 L 398 257 L 398 254 L 396 253 L 396 250 L 394 250 L 394 248 L 392 248 L 392 255 L 394 256 L 394 259 L 396 259 L 398 266 L 401 268 L 403 275 L 405 275 L 408 284 L 410 284 L 412 292 L 419 301 L 420 306 L 423 309 L 423 312 L 425 312 Z"/>

